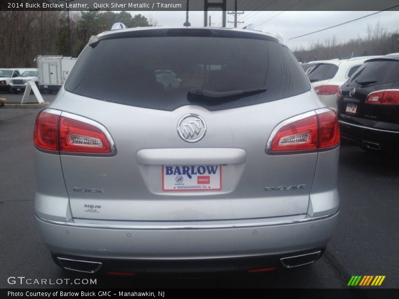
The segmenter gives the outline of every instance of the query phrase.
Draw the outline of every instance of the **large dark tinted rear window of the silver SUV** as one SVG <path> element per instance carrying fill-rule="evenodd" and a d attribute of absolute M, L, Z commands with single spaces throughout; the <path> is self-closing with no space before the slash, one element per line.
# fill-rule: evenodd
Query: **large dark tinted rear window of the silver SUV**
<path fill-rule="evenodd" d="M 226 92 L 267 88 L 231 101 L 201 100 L 220 110 L 274 101 L 310 89 L 291 51 L 274 40 L 157 36 L 103 39 L 87 46 L 65 89 L 103 101 L 172 111 L 193 88 Z"/>

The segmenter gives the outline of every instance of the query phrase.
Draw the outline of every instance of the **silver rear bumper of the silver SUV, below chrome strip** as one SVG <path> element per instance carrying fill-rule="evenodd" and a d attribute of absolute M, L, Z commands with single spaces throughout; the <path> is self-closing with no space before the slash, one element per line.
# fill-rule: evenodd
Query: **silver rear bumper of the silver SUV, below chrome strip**
<path fill-rule="evenodd" d="M 280 266 L 282 257 L 325 248 L 337 218 L 338 211 L 280 224 L 182 229 L 76 226 L 38 217 L 36 222 L 54 256 L 101 261 L 111 271 L 128 267 L 130 271 L 145 272 L 159 265 L 171 271 L 176 265 L 192 265 L 193 261 L 197 261 L 196 265 L 198 261 L 200 265 L 215 265 L 216 261 L 244 260 L 243 264 L 222 263 L 232 270 Z M 174 266 L 168 268 L 169 265 Z"/>

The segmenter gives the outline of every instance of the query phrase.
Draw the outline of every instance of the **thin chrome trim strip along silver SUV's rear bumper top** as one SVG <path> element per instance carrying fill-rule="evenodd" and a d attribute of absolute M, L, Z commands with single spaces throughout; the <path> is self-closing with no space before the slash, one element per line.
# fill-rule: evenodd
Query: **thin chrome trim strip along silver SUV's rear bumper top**
<path fill-rule="evenodd" d="M 90 223 L 75 223 L 75 222 L 62 222 L 50 219 L 44 219 L 37 215 L 36 218 L 43 222 L 56 225 L 65 225 L 69 227 L 86 227 L 86 228 L 102 228 L 102 229 L 133 229 L 133 230 L 175 230 L 175 229 L 224 229 L 224 228 L 247 228 L 247 227 L 261 227 L 261 226 L 276 226 L 276 225 L 286 225 L 286 224 L 296 224 L 296 223 L 306 223 L 312 221 L 318 221 L 333 217 L 339 213 L 337 210 L 334 213 L 323 215 L 314 218 L 303 218 L 296 220 L 284 220 L 284 221 L 269 221 L 269 222 L 253 222 L 253 223 L 238 223 L 238 224 L 193 224 L 193 225 L 111 225 L 111 224 L 90 224 Z"/>

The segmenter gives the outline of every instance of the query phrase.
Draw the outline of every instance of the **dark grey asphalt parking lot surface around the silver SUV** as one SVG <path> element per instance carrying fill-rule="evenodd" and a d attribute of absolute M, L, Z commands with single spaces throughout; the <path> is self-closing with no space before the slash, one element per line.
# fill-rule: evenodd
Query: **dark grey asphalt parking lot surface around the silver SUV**
<path fill-rule="evenodd" d="M 48 101 L 52 97 L 49 95 Z M 71 287 L 9 285 L 7 278 L 10 276 L 52 280 L 88 278 L 65 272 L 53 263 L 34 223 L 32 130 L 38 111 L 0 109 L 0 288 Z M 341 145 L 339 225 L 326 254 L 310 267 L 264 275 L 200 279 L 100 276 L 97 285 L 90 287 L 348 288 L 352 275 L 385 275 L 382 287 L 397 288 L 398 169 L 399 159 L 395 156 L 365 152 L 347 143 Z"/>

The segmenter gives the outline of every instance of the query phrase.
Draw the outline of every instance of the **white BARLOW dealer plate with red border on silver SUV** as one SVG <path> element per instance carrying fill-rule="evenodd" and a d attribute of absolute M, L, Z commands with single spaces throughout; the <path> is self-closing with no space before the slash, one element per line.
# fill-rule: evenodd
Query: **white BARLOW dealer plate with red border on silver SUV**
<path fill-rule="evenodd" d="M 222 165 L 162 165 L 163 191 L 221 190 Z"/>

